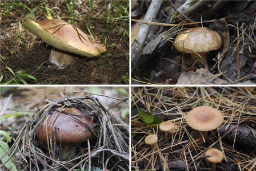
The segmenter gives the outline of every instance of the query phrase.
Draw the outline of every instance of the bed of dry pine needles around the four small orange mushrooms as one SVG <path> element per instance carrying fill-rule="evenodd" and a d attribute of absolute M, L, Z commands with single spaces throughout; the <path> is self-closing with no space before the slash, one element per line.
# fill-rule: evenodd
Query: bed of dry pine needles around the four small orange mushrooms
<path fill-rule="evenodd" d="M 217 170 L 255 170 L 255 87 L 141 87 L 132 89 L 131 99 L 131 170 L 199 170 L 210 169 L 204 153 L 214 147 L 222 150 L 224 160 Z M 206 143 L 202 136 L 186 124 L 186 114 L 197 105 L 211 105 L 224 115 L 224 123 L 208 132 Z M 165 121 L 178 125 L 178 132 L 165 142 L 157 126 L 143 123 L 137 108 L 154 112 Z M 242 137 L 234 127 L 234 136 L 223 129 L 243 125 L 249 129 L 250 139 Z M 144 139 L 149 134 L 158 135 L 157 150 L 153 152 Z M 245 142 L 247 141 L 247 142 Z"/>

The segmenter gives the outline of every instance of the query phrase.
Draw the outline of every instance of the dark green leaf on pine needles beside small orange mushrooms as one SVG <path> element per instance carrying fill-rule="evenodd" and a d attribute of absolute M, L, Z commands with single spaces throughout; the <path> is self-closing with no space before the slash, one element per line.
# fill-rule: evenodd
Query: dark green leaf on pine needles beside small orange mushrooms
<path fill-rule="evenodd" d="M 153 112 L 147 112 L 142 108 L 139 108 L 138 112 L 139 118 L 146 124 L 158 125 L 163 122 L 163 120 L 159 119 L 156 115 L 154 115 L 155 113 Z"/>

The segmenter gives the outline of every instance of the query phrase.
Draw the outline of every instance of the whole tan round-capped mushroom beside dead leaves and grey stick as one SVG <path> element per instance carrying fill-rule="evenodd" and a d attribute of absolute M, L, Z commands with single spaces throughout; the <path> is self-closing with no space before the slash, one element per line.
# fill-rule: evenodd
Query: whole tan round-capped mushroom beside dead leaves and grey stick
<path fill-rule="evenodd" d="M 191 54 L 201 64 L 207 65 L 206 53 L 222 48 L 222 38 L 206 27 L 190 28 L 181 32 L 174 42 L 177 51 Z"/>

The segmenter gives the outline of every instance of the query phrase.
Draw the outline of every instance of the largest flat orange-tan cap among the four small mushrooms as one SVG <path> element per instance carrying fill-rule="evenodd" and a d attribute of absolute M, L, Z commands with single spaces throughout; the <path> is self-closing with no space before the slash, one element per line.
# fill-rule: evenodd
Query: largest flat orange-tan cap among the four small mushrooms
<path fill-rule="evenodd" d="M 186 121 L 189 126 L 198 131 L 211 131 L 223 123 L 223 115 L 218 109 L 202 105 L 189 111 Z"/>

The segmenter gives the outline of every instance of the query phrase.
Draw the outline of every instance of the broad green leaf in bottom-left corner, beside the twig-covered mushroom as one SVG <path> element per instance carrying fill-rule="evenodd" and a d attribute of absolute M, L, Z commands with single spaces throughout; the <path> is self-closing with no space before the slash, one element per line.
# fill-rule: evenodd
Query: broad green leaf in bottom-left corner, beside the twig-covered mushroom
<path fill-rule="evenodd" d="M 0 157 L 3 156 L 3 154 L 5 154 L 7 152 L 7 150 L 9 149 L 8 144 L 6 144 L 3 141 L 0 141 Z M 7 159 L 9 158 L 9 155 L 6 155 L 5 157 L 3 157 L 1 159 L 2 162 L 5 162 Z M 6 162 L 5 167 L 7 168 L 7 170 L 9 171 L 16 171 L 17 168 L 15 167 L 15 165 L 13 164 L 12 160 L 9 160 Z"/>

